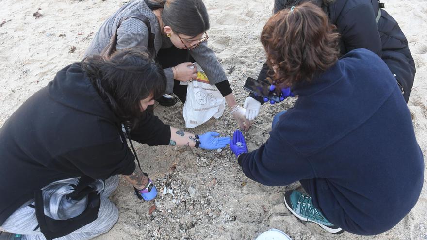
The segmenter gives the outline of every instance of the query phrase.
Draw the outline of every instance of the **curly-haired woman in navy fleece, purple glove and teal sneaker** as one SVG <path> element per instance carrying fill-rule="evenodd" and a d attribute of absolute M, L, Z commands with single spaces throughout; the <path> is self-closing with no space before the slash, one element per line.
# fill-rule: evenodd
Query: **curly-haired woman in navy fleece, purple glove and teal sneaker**
<path fill-rule="evenodd" d="M 245 175 L 269 186 L 299 181 L 308 195 L 286 192 L 286 207 L 331 233 L 394 227 L 418 200 L 424 160 L 387 65 L 366 49 L 338 60 L 336 28 L 311 3 L 272 16 L 261 41 L 273 84 L 298 100 L 259 149 L 248 153 L 234 133 L 230 147 Z"/>

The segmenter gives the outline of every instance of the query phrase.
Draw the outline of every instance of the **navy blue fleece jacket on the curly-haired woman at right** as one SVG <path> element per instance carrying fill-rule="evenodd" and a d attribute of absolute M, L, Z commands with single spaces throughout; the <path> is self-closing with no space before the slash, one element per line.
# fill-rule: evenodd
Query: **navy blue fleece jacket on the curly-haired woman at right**
<path fill-rule="evenodd" d="M 259 149 L 239 157 L 264 185 L 300 181 L 333 224 L 372 235 L 413 208 L 424 160 L 411 114 L 387 65 L 373 52 L 345 54 L 312 83 Z"/>

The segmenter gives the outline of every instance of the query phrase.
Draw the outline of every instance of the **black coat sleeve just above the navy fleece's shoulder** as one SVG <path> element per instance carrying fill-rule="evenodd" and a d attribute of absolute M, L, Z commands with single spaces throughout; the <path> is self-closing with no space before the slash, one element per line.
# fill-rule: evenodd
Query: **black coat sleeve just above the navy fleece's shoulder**
<path fill-rule="evenodd" d="M 371 4 L 360 4 L 341 13 L 336 25 L 346 52 L 365 48 L 381 57 L 381 39 L 375 17 Z"/>

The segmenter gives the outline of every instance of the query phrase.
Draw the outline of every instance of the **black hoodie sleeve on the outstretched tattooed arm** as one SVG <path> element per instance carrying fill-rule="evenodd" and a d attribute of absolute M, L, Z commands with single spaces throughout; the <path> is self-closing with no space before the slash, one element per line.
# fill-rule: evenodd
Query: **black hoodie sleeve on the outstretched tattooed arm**
<path fill-rule="evenodd" d="M 138 125 L 131 129 L 131 139 L 149 146 L 168 145 L 170 126 L 164 124 L 157 116 L 145 112 Z"/>

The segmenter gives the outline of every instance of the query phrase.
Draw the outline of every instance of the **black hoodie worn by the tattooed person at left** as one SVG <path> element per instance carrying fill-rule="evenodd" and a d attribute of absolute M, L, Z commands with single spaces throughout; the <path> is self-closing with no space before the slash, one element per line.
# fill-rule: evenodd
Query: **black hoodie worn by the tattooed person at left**
<path fill-rule="evenodd" d="M 166 145 L 170 128 L 147 114 L 131 138 Z M 0 129 L 0 225 L 33 192 L 71 177 L 107 179 L 135 170 L 121 123 L 80 63 L 59 71 Z"/>

